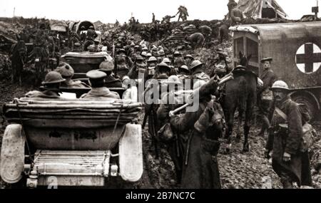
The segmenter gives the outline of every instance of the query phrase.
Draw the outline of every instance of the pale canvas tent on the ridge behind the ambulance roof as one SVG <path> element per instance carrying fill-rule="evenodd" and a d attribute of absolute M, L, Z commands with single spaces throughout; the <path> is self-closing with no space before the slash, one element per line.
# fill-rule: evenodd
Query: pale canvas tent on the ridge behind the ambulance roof
<path fill-rule="evenodd" d="M 287 14 L 277 4 L 276 0 L 239 0 L 238 9 L 243 11 L 247 18 L 253 19 L 286 19 Z"/>

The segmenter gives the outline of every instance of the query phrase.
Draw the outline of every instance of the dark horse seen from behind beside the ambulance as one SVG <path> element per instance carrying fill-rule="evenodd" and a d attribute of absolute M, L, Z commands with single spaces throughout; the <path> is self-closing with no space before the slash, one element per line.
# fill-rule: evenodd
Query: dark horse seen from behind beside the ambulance
<path fill-rule="evenodd" d="M 240 125 L 243 122 L 243 113 L 245 113 L 243 152 L 249 151 L 248 133 L 250 131 L 253 108 L 256 103 L 258 78 L 255 73 L 246 70 L 251 56 L 243 56 L 241 52 L 239 55 L 240 66 L 233 70 L 234 80 L 229 80 L 225 84 L 225 95 L 222 102 L 225 118 L 228 123 L 228 130 L 225 132 L 225 139 L 227 139 L 225 152 L 230 152 L 236 109 L 238 109 L 237 140 L 240 140 Z"/>

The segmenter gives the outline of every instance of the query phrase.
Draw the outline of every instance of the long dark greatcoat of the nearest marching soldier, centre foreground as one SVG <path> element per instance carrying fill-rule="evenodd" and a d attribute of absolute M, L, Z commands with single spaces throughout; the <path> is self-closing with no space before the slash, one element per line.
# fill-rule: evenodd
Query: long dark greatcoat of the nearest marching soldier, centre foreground
<path fill-rule="evenodd" d="M 207 102 L 202 101 L 196 112 L 187 112 L 170 119 L 173 130 L 180 132 L 181 140 L 186 140 L 181 183 L 181 188 L 184 189 L 220 188 L 218 162 L 214 155 L 219 144 L 215 140 L 207 139 L 205 132 L 198 132 L 194 127 L 206 105 Z"/>

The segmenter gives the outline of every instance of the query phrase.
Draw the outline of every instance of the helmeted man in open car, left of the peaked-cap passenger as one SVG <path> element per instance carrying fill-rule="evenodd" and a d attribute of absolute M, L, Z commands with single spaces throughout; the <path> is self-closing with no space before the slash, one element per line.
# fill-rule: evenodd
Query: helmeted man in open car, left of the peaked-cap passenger
<path fill-rule="evenodd" d="M 61 77 L 60 73 L 56 71 L 50 71 L 49 73 L 47 73 L 44 81 L 42 82 L 45 90 L 30 91 L 29 93 L 26 93 L 26 98 L 60 98 L 60 84 L 64 81 L 65 79 Z"/>

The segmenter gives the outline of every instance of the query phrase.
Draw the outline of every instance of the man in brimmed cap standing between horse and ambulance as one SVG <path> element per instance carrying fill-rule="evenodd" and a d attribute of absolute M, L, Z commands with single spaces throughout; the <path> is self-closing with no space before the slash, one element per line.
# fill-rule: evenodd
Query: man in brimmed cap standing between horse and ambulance
<path fill-rule="evenodd" d="M 272 58 L 263 58 L 261 63 L 263 63 L 263 73 L 261 74 L 261 79 L 263 80 L 263 87 L 258 90 L 258 108 L 259 115 L 262 117 L 263 126 L 259 132 L 259 136 L 264 136 L 265 130 L 270 127 L 270 121 L 267 118 L 270 111 L 270 105 L 273 100 L 272 91 L 270 88 L 275 82 L 276 76 L 271 69 Z"/>

